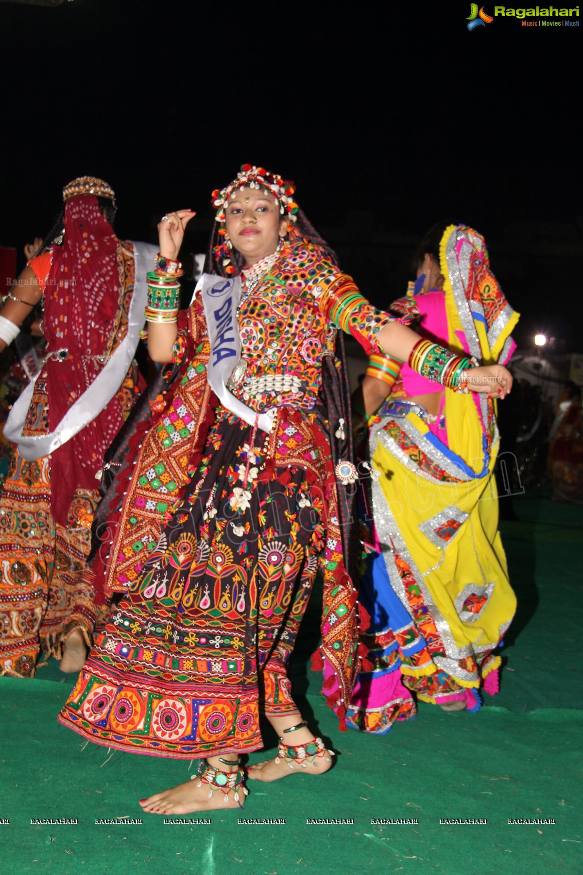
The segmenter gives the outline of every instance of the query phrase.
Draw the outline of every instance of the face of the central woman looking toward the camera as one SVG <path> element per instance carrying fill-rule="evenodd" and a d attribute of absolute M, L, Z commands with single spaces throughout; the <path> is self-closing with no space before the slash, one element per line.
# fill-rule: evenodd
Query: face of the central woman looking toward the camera
<path fill-rule="evenodd" d="M 272 194 L 263 189 L 237 189 L 226 207 L 226 238 L 245 258 L 247 266 L 271 255 L 286 235 L 288 217 L 280 213 Z"/>

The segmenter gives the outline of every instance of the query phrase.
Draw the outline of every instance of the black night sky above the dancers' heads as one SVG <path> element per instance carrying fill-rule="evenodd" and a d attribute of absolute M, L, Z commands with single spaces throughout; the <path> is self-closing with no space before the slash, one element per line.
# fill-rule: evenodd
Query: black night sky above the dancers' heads
<path fill-rule="evenodd" d="M 485 10 L 493 13 L 492 4 Z M 580 351 L 580 27 L 495 18 L 469 3 L 0 3 L 0 243 L 43 235 L 75 176 L 115 188 L 116 231 L 153 239 L 243 162 L 295 179 L 297 199 L 378 305 L 404 293 L 435 221 L 485 235 L 522 312 Z M 579 347 L 579 348 L 578 348 Z"/>

